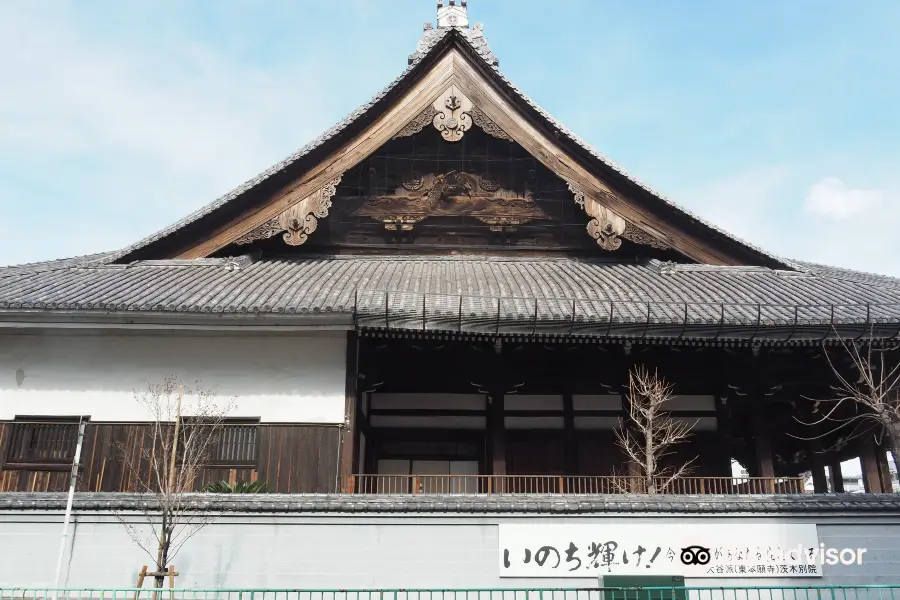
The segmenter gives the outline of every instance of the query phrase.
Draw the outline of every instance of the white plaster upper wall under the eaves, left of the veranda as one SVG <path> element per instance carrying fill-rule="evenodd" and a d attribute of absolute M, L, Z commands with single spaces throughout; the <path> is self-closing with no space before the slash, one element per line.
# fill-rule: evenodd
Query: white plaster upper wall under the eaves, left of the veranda
<path fill-rule="evenodd" d="M 229 416 L 263 422 L 344 420 L 346 338 L 109 334 L 0 335 L 0 419 L 90 415 L 143 421 L 135 390 L 176 376 L 200 381 Z M 21 379 L 21 383 L 19 380 Z M 186 410 L 190 413 L 190 410 Z"/>

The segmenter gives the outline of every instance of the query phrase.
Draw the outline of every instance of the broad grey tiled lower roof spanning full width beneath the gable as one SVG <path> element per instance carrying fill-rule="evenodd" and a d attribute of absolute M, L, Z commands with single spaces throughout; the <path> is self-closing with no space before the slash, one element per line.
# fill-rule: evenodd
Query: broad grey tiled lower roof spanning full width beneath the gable
<path fill-rule="evenodd" d="M 354 313 L 365 327 L 630 337 L 747 334 L 721 326 L 786 337 L 795 321 L 812 327 L 790 333 L 796 341 L 821 338 L 832 320 L 891 323 L 879 336 L 895 336 L 900 280 L 656 260 L 245 256 L 110 265 L 89 257 L 0 269 L 0 318 L 23 311 Z"/>

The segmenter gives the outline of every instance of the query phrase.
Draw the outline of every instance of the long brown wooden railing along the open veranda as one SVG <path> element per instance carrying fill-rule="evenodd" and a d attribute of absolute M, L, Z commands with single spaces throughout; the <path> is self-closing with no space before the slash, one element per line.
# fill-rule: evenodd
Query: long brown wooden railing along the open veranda
<path fill-rule="evenodd" d="M 682 477 L 657 494 L 803 494 L 801 477 Z M 347 494 L 646 494 L 643 477 L 566 475 L 351 475 Z"/>

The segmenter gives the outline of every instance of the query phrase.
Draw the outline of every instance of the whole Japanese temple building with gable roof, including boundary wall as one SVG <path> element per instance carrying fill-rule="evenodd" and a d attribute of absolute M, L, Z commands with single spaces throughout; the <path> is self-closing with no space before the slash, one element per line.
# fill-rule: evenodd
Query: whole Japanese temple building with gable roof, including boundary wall
<path fill-rule="evenodd" d="M 808 423 L 832 397 L 832 365 L 852 368 L 829 353 L 898 336 L 900 279 L 776 256 L 691 214 L 515 87 L 465 0 L 438 1 L 402 74 L 282 162 L 126 248 L 0 268 L 0 523 L 29 544 L 46 537 L 55 557 L 76 462 L 73 547 L 93 550 L 73 554 L 66 581 L 95 587 L 87 573 L 106 567 L 78 561 L 102 544 L 80 532 L 111 535 L 110 515 L 152 477 L 116 450 L 140 452 L 150 427 L 135 390 L 174 376 L 234 400 L 197 490 L 225 480 L 276 492 L 232 500 L 202 535 L 239 539 L 256 523 L 271 544 L 233 549 L 246 566 L 270 546 L 290 553 L 277 540 L 295 534 L 273 523 L 292 522 L 318 555 L 298 581 L 275 562 L 221 570 L 186 546 L 184 585 L 604 575 L 542 574 L 531 550 L 523 564 L 518 548 L 537 537 L 516 528 L 537 522 L 566 543 L 567 527 L 679 522 L 732 538 L 750 527 L 791 540 L 799 528 L 798 543 L 814 545 L 865 546 L 885 528 L 897 540 L 888 438 Z M 657 490 L 616 443 L 638 367 L 672 386 L 668 414 L 692 429 L 665 459 L 691 472 Z M 842 495 L 839 465 L 856 457 L 869 493 Z M 900 562 L 900 542 L 876 537 L 863 566 L 700 574 L 676 558 L 647 574 L 874 583 Z M 338 538 L 382 558 L 342 576 Z M 665 557 L 667 545 L 651 550 Z M 554 547 L 568 571 L 566 546 Z M 30 578 L 7 573 L 0 586 L 46 584 L 40 561 L 0 554 Z M 140 559 L 128 556 L 107 552 L 104 564 L 128 573 L 109 585 L 132 584 Z"/>

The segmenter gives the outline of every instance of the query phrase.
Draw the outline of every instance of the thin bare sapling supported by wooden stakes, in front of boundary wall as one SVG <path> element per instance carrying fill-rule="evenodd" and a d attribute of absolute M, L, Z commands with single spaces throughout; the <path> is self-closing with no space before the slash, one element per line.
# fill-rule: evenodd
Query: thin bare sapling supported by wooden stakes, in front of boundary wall
<path fill-rule="evenodd" d="M 192 506 L 201 471 L 218 444 L 222 421 L 231 410 L 214 392 L 197 385 L 185 387 L 175 377 L 135 391 L 135 400 L 148 412 L 149 432 L 137 447 L 118 450 L 132 488 L 146 494 L 141 508 L 145 522 L 138 526 L 128 515 L 117 517 L 131 539 L 156 565 L 156 587 L 185 542 L 218 515 Z M 182 417 L 183 409 L 190 417 Z"/>

